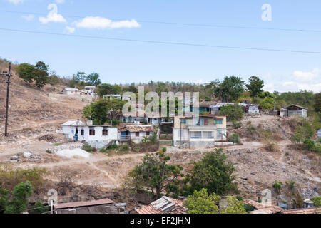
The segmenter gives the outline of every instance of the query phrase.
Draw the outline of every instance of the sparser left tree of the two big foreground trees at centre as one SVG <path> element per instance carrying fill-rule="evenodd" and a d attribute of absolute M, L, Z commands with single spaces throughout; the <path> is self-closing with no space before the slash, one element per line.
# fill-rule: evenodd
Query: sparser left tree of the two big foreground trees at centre
<path fill-rule="evenodd" d="M 146 190 L 153 193 L 153 197 L 161 197 L 163 191 L 174 190 L 173 183 L 178 179 L 178 175 L 182 170 L 180 165 L 169 165 L 169 156 L 165 156 L 164 152 L 156 154 L 148 154 L 143 157 L 141 165 L 128 173 L 131 179 L 131 185 L 136 190 Z M 175 189 L 177 190 L 177 188 Z M 177 192 L 175 192 L 177 194 Z"/>

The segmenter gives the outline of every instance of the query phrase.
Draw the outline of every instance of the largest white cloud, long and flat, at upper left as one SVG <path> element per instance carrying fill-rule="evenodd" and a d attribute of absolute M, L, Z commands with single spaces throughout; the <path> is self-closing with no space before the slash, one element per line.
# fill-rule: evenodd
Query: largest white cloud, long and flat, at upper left
<path fill-rule="evenodd" d="M 74 24 L 78 28 L 96 28 L 96 29 L 105 29 L 105 28 L 139 28 L 141 25 L 137 21 L 111 21 L 99 16 L 86 16 L 81 21 L 75 21 Z"/>

